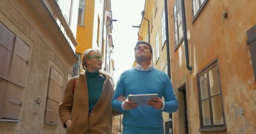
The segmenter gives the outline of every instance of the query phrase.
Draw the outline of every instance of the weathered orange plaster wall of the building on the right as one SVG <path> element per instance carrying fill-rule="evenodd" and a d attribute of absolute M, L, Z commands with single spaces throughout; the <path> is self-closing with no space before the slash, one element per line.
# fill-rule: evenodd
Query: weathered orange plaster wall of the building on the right
<path fill-rule="evenodd" d="M 175 50 L 173 5 L 169 0 L 169 28 L 172 61 L 172 82 L 178 89 L 186 84 L 189 131 L 191 134 L 254 134 L 256 133 L 256 81 L 246 44 L 246 31 L 256 24 L 255 0 L 208 0 L 192 23 L 192 2 L 185 1 L 189 60 L 192 73 L 186 68 L 184 41 Z M 227 19 L 223 18 L 227 10 Z M 197 73 L 214 59 L 219 61 L 220 84 L 226 119 L 226 131 L 199 131 L 200 112 Z M 185 79 L 184 79 L 185 78 Z M 181 105 L 182 103 L 180 103 Z M 243 108 L 244 115 L 241 115 Z M 174 134 L 182 134 L 182 109 L 174 113 Z"/>

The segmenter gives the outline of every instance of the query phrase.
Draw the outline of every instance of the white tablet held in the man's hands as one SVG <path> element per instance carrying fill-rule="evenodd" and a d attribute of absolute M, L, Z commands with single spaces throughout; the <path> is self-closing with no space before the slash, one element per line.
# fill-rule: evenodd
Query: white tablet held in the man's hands
<path fill-rule="evenodd" d="M 148 107 L 149 101 L 151 98 L 158 98 L 157 94 L 140 94 L 140 95 L 128 95 L 129 101 L 134 101 L 137 103 L 137 107 Z"/>

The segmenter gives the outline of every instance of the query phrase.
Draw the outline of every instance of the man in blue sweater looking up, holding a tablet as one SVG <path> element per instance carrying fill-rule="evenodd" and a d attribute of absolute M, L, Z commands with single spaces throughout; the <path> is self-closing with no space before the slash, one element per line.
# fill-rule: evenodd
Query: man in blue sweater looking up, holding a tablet
<path fill-rule="evenodd" d="M 123 112 L 122 134 L 163 134 L 162 111 L 177 110 L 178 101 L 173 93 L 171 81 L 164 72 L 150 64 L 152 47 L 147 42 L 137 42 L 135 48 L 136 67 L 120 75 L 112 100 L 112 107 Z M 150 107 L 137 107 L 133 101 L 118 101 L 120 95 L 158 94 L 148 101 Z M 165 101 L 162 101 L 164 97 Z"/>

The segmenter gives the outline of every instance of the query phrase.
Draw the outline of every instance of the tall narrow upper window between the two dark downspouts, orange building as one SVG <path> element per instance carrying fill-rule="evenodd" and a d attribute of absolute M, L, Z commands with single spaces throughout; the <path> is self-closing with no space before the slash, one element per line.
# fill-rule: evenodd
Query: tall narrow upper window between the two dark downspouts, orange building
<path fill-rule="evenodd" d="M 182 12 L 181 12 L 181 0 L 176 0 L 173 8 L 174 16 L 174 33 L 175 33 L 175 46 L 183 39 L 183 26 L 182 26 Z"/>

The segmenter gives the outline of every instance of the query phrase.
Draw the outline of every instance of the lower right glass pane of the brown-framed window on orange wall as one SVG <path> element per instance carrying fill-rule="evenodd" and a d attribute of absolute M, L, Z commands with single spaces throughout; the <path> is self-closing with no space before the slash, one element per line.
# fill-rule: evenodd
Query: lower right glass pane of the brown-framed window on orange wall
<path fill-rule="evenodd" d="M 221 104 L 221 94 L 213 96 L 211 98 L 212 110 L 213 110 L 213 124 L 224 124 L 223 111 Z"/>

